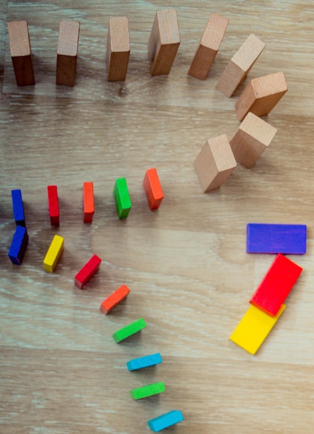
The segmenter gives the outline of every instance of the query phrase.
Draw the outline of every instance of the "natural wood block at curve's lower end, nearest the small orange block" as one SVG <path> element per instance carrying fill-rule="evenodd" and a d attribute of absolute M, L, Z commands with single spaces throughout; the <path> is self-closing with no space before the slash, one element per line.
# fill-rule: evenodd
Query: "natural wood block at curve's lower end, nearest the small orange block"
<path fill-rule="evenodd" d="M 204 193 L 218 189 L 236 167 L 237 162 L 225 134 L 207 140 L 194 162 Z"/>

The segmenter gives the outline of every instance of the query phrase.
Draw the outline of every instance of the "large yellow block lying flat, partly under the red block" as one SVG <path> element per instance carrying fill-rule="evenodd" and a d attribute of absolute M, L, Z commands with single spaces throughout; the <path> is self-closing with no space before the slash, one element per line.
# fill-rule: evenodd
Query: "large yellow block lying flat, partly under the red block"
<path fill-rule="evenodd" d="M 286 309 L 286 304 L 282 304 L 277 315 L 273 317 L 251 305 L 237 328 L 234 329 L 230 340 L 248 351 L 248 353 L 255 354 L 284 309 Z"/>

